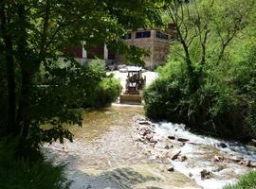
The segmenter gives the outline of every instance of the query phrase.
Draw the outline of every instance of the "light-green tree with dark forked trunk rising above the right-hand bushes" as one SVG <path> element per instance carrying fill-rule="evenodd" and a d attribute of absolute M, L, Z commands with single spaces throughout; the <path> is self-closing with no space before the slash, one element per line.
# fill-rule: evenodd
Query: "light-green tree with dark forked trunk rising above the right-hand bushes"
<path fill-rule="evenodd" d="M 177 43 L 182 48 L 182 53 L 175 53 L 187 64 L 192 93 L 200 87 L 207 63 L 218 66 L 234 38 L 243 35 L 254 7 L 255 2 L 251 0 L 170 2 L 167 12 L 176 26 Z"/>

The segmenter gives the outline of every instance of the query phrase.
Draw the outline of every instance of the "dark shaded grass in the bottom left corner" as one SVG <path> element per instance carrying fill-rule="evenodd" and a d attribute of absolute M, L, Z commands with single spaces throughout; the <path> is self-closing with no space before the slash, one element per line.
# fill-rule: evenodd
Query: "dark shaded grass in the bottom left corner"
<path fill-rule="evenodd" d="M 1 189 L 64 189 L 64 166 L 53 166 L 43 160 L 30 162 L 15 157 L 16 143 L 1 138 L 0 188 Z"/>

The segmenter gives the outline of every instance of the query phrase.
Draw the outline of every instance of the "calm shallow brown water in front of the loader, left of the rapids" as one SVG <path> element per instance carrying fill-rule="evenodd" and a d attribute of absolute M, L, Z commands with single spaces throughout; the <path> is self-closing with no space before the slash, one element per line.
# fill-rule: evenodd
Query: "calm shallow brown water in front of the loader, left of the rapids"
<path fill-rule="evenodd" d="M 157 162 L 139 150 L 132 134 L 135 115 L 142 106 L 112 106 L 84 112 L 82 128 L 69 126 L 74 142 L 45 145 L 46 158 L 65 163 L 72 189 L 200 188 L 193 180 Z"/>

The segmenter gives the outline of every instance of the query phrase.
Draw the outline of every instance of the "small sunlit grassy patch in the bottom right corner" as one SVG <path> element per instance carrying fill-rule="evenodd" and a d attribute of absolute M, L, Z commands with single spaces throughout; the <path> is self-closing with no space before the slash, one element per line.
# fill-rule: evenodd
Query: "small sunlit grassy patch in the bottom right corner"
<path fill-rule="evenodd" d="M 256 188 L 256 172 L 252 171 L 241 178 L 236 184 L 228 185 L 224 189 L 253 189 Z"/>

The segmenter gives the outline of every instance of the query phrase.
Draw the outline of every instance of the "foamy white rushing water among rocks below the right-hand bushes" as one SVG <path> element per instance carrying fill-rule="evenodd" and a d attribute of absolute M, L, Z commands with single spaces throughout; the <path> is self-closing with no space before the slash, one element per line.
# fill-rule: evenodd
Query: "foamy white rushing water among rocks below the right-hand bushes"
<path fill-rule="evenodd" d="M 168 122 L 155 123 L 155 135 L 157 138 L 174 136 L 175 138 L 189 139 L 189 143 L 181 146 L 181 154 L 188 157 L 188 161 L 172 161 L 174 169 L 183 173 L 187 177 L 195 180 L 198 185 L 205 189 L 221 189 L 228 183 L 233 183 L 238 177 L 248 170 L 246 166 L 237 163 L 227 162 L 223 170 L 216 170 L 216 163 L 212 161 L 212 154 L 222 154 L 227 159 L 243 158 L 244 160 L 256 161 L 256 150 L 251 146 L 245 146 L 237 142 L 217 140 L 211 137 L 196 135 L 184 125 L 172 124 Z M 223 147 L 224 146 L 224 147 Z M 202 170 L 210 171 L 214 174 L 211 179 L 201 178 Z"/>

